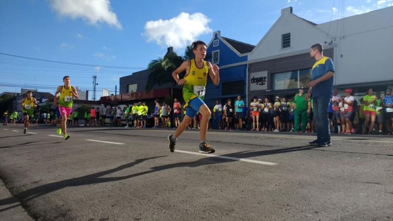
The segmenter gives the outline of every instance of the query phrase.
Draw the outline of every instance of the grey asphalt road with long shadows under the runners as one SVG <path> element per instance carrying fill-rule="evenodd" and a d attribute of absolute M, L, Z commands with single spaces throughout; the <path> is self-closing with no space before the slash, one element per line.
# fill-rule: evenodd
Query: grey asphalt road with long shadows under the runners
<path fill-rule="evenodd" d="M 197 155 L 198 131 L 174 153 L 169 130 L 28 132 L 0 126 L 0 220 L 393 220 L 392 136 L 317 148 L 308 135 L 209 131 L 216 152 Z"/>

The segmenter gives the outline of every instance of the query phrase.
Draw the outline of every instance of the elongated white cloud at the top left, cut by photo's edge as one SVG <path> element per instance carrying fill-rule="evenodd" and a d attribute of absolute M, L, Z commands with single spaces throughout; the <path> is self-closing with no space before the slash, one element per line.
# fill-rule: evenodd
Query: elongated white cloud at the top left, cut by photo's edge
<path fill-rule="evenodd" d="M 60 16 L 82 18 L 92 25 L 107 23 L 121 29 L 117 16 L 111 11 L 109 0 L 50 0 L 51 6 Z"/>

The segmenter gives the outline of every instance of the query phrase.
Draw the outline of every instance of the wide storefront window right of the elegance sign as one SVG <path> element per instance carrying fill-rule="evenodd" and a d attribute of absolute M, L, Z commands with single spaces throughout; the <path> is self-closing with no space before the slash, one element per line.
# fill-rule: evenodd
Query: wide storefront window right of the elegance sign
<path fill-rule="evenodd" d="M 273 74 L 273 90 L 307 87 L 311 81 L 311 70 L 302 69 Z"/>

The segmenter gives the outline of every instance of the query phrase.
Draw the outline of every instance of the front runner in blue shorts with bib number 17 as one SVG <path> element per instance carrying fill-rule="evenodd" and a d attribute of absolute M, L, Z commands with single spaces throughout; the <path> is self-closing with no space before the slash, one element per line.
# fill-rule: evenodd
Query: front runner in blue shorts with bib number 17
<path fill-rule="evenodd" d="M 200 153 L 213 153 L 215 150 L 206 143 L 206 132 L 211 111 L 203 102 L 207 75 L 209 74 L 215 85 L 220 83 L 219 67 L 205 61 L 206 44 L 203 41 L 196 41 L 192 44 L 195 59 L 184 61 L 173 73 L 172 77 L 178 85 L 183 85 L 183 98 L 187 108 L 184 119 L 177 127 L 176 132 L 168 136 L 169 150 L 174 152 L 176 139 L 183 133 L 191 120 L 199 111 L 202 114 L 200 122 Z M 184 79 L 179 79 L 179 74 L 186 71 Z"/>

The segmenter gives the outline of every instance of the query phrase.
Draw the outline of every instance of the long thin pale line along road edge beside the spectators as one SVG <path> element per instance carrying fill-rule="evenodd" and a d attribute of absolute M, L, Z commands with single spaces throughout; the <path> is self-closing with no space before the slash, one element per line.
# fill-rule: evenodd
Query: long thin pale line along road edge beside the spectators
<path fill-rule="evenodd" d="M 197 131 L 185 131 L 185 133 L 198 133 Z M 207 134 L 216 134 L 216 135 L 228 135 L 228 133 L 220 133 L 220 132 L 207 132 Z M 248 136 L 248 137 L 265 137 L 265 138 L 287 138 L 287 139 L 315 139 L 315 137 L 305 137 L 302 135 L 295 136 L 276 136 L 276 135 L 263 135 L 263 134 L 244 134 L 244 133 L 231 133 L 229 136 Z M 356 138 L 356 137 L 351 137 Z M 362 137 L 363 138 L 363 137 Z M 352 142 L 376 142 L 376 143 L 393 143 L 393 141 L 383 141 L 383 140 L 357 140 L 357 139 L 337 139 L 331 138 L 331 140 L 343 140 L 343 141 L 352 141 Z"/>

